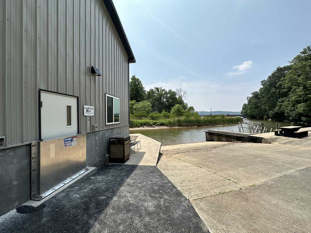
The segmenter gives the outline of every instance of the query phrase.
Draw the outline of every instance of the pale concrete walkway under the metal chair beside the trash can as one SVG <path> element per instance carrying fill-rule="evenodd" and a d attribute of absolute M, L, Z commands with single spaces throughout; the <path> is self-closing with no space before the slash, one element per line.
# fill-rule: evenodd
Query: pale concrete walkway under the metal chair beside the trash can
<path fill-rule="evenodd" d="M 134 136 L 138 136 L 136 139 L 140 141 L 141 146 L 138 145 L 138 151 L 135 147 L 131 149 L 131 156 L 125 163 L 125 165 L 149 165 L 149 166 L 156 166 L 159 158 L 159 153 L 161 149 L 161 143 L 146 137 L 142 134 L 130 134 Z M 141 147 L 141 148 L 140 148 Z M 111 163 L 111 164 L 120 164 L 120 163 Z"/>

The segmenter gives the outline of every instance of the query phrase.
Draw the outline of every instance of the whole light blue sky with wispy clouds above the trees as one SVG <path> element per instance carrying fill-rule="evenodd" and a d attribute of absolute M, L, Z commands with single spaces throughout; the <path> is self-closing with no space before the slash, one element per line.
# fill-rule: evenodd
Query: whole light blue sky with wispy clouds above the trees
<path fill-rule="evenodd" d="M 197 111 L 240 111 L 311 44 L 311 1 L 114 0 L 146 90 L 182 88 Z"/>

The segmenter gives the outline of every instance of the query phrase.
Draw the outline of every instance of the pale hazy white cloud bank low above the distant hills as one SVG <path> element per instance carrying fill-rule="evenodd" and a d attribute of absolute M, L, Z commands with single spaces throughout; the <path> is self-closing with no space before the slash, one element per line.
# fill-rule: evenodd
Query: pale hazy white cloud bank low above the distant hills
<path fill-rule="evenodd" d="M 249 93 L 258 88 L 251 82 L 230 84 L 207 79 L 189 80 L 184 76 L 144 86 L 146 90 L 154 87 L 163 87 L 166 90 L 182 88 L 188 93 L 186 102 L 197 111 L 207 111 L 210 108 L 212 111 L 240 111 Z"/>

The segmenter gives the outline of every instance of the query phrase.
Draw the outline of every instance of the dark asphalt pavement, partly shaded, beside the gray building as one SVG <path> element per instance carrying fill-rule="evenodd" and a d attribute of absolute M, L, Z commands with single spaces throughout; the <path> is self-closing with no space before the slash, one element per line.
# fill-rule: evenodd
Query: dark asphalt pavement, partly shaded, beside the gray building
<path fill-rule="evenodd" d="M 47 200 L 0 217 L 0 232 L 209 232 L 154 166 L 112 165 Z"/>

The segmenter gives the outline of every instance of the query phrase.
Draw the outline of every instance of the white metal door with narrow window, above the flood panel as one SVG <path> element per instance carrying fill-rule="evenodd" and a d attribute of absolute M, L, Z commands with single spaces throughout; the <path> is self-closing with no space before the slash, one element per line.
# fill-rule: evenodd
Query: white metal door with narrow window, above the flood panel
<path fill-rule="evenodd" d="M 77 98 L 41 91 L 41 139 L 78 133 Z"/>

